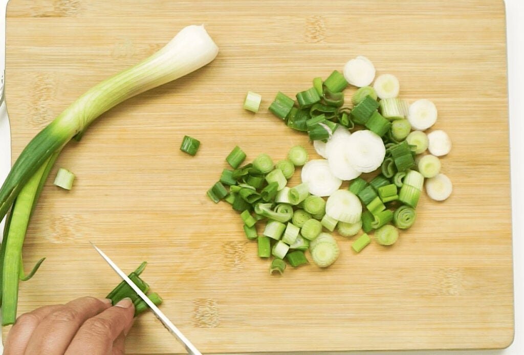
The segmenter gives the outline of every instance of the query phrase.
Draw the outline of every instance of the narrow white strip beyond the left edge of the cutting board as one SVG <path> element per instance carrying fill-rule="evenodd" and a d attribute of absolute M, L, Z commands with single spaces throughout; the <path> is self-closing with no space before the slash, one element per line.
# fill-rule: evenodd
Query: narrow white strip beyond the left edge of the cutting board
<path fill-rule="evenodd" d="M 9 116 L 7 116 L 7 105 L 4 96 L 4 74 L 5 74 L 5 14 L 7 1 L 2 0 L 0 5 L 0 185 L 11 169 L 11 129 Z M 5 218 L 0 221 L 0 241 L 3 237 Z"/>

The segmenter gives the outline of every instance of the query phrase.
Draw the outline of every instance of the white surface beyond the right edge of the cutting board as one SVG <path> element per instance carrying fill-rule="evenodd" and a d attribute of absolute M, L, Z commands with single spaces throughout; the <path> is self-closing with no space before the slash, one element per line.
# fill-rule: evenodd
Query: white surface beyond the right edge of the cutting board
<path fill-rule="evenodd" d="M 496 0 L 494 0 L 496 1 Z M 0 3 L 4 3 L 0 1 Z M 366 355 L 524 355 L 524 0 L 506 0 L 515 279 L 515 340 L 503 350 L 366 352 Z M 3 31 L 3 29 L 0 29 Z M 3 34 L 2 34 L 3 36 Z M 478 73 L 482 75 L 482 73 Z M 489 88 L 486 88 L 489 90 Z M 4 152 L 0 152 L 0 159 Z M 0 172 L 2 176 L 6 172 Z M 163 331 L 159 325 L 158 331 Z M 2 352 L 0 343 L 0 352 Z"/>

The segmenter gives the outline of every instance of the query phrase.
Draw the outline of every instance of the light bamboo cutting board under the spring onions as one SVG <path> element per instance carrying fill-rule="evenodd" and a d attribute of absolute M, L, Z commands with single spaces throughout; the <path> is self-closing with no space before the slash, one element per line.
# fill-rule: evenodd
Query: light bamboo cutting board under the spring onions
<path fill-rule="evenodd" d="M 205 24 L 220 47 L 210 65 L 132 98 L 70 143 L 51 173 L 24 247 L 19 314 L 119 279 L 96 243 L 144 279 L 202 352 L 501 348 L 514 335 L 506 37 L 501 1 L 243 2 L 12 0 L 6 99 L 16 158 L 42 127 L 95 83 L 146 58 L 182 27 Z M 444 203 L 423 196 L 417 223 L 390 248 L 360 254 L 338 237 L 332 267 L 270 276 L 237 214 L 205 192 L 238 145 L 275 160 L 307 136 L 267 112 L 358 55 L 395 74 L 400 97 L 431 99 L 452 152 Z M 259 114 L 244 95 L 263 95 Z M 354 89 L 348 88 L 348 95 Z M 195 157 L 184 135 L 201 140 Z M 52 185 L 58 167 L 72 191 Z M 294 180 L 293 183 L 296 183 Z M 8 328 L 4 329 L 4 335 Z M 129 353 L 183 348 L 152 314 Z"/>

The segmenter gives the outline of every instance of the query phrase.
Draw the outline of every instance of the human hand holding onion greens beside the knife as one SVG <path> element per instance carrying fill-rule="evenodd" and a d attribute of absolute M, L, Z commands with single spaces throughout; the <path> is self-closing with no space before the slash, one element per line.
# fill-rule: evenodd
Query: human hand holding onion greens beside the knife
<path fill-rule="evenodd" d="M 64 305 L 40 307 L 18 317 L 9 330 L 4 355 L 123 354 L 135 307 L 129 298 L 82 297 Z"/>

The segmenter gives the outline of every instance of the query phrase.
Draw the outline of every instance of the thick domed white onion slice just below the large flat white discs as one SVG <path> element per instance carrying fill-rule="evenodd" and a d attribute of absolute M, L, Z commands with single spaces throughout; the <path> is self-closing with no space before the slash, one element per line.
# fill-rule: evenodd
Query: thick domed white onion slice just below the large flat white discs
<path fill-rule="evenodd" d="M 349 190 L 337 190 L 326 201 L 326 215 L 346 223 L 356 223 L 362 216 L 360 199 Z"/>

